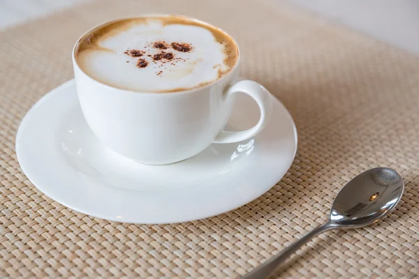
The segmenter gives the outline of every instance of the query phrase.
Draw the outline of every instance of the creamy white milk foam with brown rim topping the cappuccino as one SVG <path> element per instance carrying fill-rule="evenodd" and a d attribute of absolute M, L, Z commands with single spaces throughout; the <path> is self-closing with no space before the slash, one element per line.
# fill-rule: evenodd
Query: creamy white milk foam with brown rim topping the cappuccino
<path fill-rule="evenodd" d="M 121 89 L 187 90 L 218 80 L 237 62 L 238 50 L 233 40 L 222 31 L 215 32 L 218 33 L 214 36 L 214 30 L 200 24 L 168 24 L 165 17 L 149 17 L 131 22 L 124 28 L 115 27 L 109 36 L 98 32 L 96 47 L 80 47 L 76 59 L 87 75 Z M 153 47 L 155 42 L 166 43 L 168 49 Z M 187 43 L 191 50 L 174 50 L 170 47 L 174 42 Z M 124 53 L 127 50 L 140 50 L 144 54 L 131 57 Z M 171 52 L 174 58 L 154 61 L 153 55 L 161 51 Z M 147 66 L 138 68 L 138 59 L 145 59 Z"/>

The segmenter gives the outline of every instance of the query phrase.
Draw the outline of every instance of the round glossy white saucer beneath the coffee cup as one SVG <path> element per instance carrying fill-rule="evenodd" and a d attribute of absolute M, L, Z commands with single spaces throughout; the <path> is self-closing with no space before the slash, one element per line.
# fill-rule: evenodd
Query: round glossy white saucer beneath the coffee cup
<path fill-rule="evenodd" d="M 258 114 L 253 100 L 238 94 L 228 127 L 249 128 Z M 127 223 L 177 223 L 235 209 L 272 188 L 296 151 L 293 119 L 274 98 L 272 119 L 253 140 L 212 144 L 173 165 L 135 163 L 91 133 L 74 80 L 41 98 L 16 138 L 23 172 L 45 195 L 75 211 Z"/>

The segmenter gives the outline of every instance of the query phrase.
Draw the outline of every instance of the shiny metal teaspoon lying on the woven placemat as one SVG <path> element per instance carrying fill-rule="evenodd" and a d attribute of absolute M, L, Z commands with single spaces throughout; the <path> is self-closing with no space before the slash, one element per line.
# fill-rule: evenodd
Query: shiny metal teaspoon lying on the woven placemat
<path fill-rule="evenodd" d="M 394 169 L 377 167 L 358 174 L 346 183 L 335 197 L 325 224 L 316 227 L 242 279 L 266 278 L 284 263 L 286 258 L 317 234 L 329 229 L 363 227 L 378 221 L 395 208 L 402 198 L 403 190 L 402 176 Z"/>

